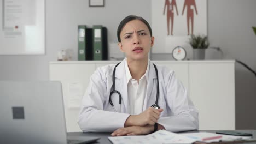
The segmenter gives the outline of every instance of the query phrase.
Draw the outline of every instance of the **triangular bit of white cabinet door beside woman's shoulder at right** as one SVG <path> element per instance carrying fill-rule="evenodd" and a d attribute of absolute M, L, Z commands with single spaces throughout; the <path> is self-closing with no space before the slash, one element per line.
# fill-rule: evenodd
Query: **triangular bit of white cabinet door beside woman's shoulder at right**
<path fill-rule="evenodd" d="M 165 66 L 170 70 L 174 70 L 177 79 L 179 79 L 189 92 L 188 63 L 161 63 L 155 62 L 156 65 Z"/>

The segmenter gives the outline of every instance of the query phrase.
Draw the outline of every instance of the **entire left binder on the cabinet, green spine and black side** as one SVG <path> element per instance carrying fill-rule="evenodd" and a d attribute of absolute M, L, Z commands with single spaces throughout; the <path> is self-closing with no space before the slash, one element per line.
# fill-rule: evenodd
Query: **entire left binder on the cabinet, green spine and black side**
<path fill-rule="evenodd" d="M 78 61 L 92 60 L 92 29 L 78 26 Z"/>

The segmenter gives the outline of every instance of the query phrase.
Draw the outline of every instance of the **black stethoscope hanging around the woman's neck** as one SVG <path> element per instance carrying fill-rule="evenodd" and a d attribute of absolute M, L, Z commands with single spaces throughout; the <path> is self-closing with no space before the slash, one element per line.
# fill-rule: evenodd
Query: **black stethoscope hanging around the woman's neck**
<path fill-rule="evenodd" d="M 120 92 L 118 92 L 117 90 L 115 90 L 115 69 L 117 68 L 117 66 L 120 64 L 121 62 L 119 62 L 117 65 L 115 65 L 114 71 L 113 71 L 113 76 L 112 76 L 112 81 L 113 81 L 113 85 L 112 85 L 112 91 L 110 92 L 109 95 L 109 103 L 110 105 L 113 107 L 114 111 L 117 112 L 117 110 L 115 110 L 114 104 L 112 103 L 111 100 L 111 96 L 113 93 L 117 93 L 119 96 L 119 112 L 121 112 L 121 94 Z M 155 104 L 153 104 L 151 107 L 153 107 L 154 109 L 160 109 L 160 106 L 158 105 L 158 96 L 159 96 L 159 81 L 158 81 L 158 68 L 156 68 L 156 65 L 153 63 L 154 68 L 155 68 L 155 73 L 156 73 L 156 80 L 158 82 L 157 88 L 156 88 L 156 99 L 155 99 Z"/>

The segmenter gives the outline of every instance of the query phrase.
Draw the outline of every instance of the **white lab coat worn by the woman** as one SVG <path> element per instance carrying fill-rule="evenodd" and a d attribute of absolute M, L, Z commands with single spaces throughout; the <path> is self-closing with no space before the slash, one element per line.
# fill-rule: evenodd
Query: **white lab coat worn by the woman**
<path fill-rule="evenodd" d="M 112 75 L 115 64 L 97 68 L 90 77 L 89 85 L 82 100 L 82 107 L 78 117 L 79 127 L 83 131 L 112 132 L 124 127 L 130 116 L 129 100 L 127 98 L 127 80 L 124 59 L 116 68 L 115 89 L 121 93 L 121 112 L 119 112 L 119 97 L 112 95 L 115 109 L 109 103 L 109 94 L 112 89 Z M 143 111 L 155 104 L 156 100 L 156 73 L 154 65 L 149 61 L 149 79 Z M 168 131 L 185 131 L 199 129 L 198 112 L 188 97 L 188 91 L 176 79 L 173 70 L 166 67 L 158 68 L 159 99 L 158 105 L 164 109 L 158 123 Z"/>

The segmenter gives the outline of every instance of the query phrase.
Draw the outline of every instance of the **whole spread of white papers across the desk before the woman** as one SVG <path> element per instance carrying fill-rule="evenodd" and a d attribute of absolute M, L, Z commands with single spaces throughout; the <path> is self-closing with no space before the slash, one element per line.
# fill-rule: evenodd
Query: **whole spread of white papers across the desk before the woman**
<path fill-rule="evenodd" d="M 249 136 L 221 135 L 207 132 L 176 134 L 166 130 L 159 130 L 155 133 L 142 136 L 115 136 L 108 137 L 113 144 L 126 143 L 194 143 L 194 142 L 219 142 L 250 139 Z"/>

